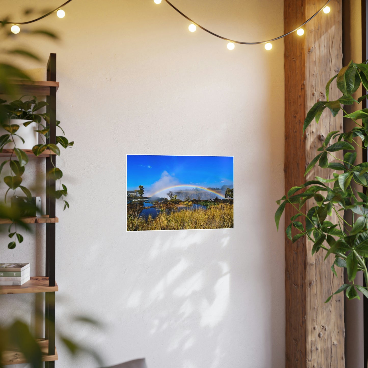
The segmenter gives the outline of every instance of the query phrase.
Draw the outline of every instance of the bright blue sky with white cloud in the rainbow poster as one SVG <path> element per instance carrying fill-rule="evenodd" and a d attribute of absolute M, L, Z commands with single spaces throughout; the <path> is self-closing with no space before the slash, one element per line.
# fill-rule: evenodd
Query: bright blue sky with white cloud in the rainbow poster
<path fill-rule="evenodd" d="M 127 190 L 145 187 L 152 195 L 179 185 L 221 188 L 234 182 L 233 157 L 227 156 L 127 156 Z"/>

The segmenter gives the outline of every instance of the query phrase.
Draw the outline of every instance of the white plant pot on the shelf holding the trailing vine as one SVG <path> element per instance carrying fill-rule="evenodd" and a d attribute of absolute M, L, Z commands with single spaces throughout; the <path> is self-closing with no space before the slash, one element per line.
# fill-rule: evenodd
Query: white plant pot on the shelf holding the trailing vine
<path fill-rule="evenodd" d="M 11 124 L 19 125 L 17 134 L 20 135 L 24 139 L 24 143 L 16 135 L 14 135 L 13 138 L 14 138 L 15 144 L 17 145 L 17 148 L 20 148 L 20 149 L 32 149 L 33 146 L 38 144 L 38 132 L 35 132 L 35 130 L 38 130 L 38 124 L 33 121 L 33 123 L 25 127 L 23 123 L 26 123 L 27 121 L 31 121 L 31 120 L 10 119 L 8 123 L 9 125 Z M 8 132 L 4 128 L 0 127 L 0 135 L 7 134 L 7 133 Z M 4 146 L 4 148 L 13 149 L 14 143 L 13 142 L 7 143 Z"/>

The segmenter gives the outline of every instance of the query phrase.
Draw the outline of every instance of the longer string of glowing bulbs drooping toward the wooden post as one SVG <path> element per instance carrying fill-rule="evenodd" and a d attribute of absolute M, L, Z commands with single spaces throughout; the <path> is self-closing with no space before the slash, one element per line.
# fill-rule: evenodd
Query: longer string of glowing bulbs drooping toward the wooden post
<path fill-rule="evenodd" d="M 154 2 L 156 4 L 160 4 L 162 0 L 154 0 Z M 272 44 L 271 42 L 272 41 L 276 41 L 280 38 L 284 38 L 285 36 L 287 35 L 290 35 L 290 33 L 293 33 L 293 32 L 297 32 L 298 35 L 303 35 L 304 34 L 304 30 L 301 28 L 302 26 L 304 26 L 305 24 L 307 24 L 309 21 L 311 21 L 317 14 L 319 14 L 321 11 L 323 11 L 324 13 L 329 13 L 330 12 L 330 7 L 327 6 L 327 4 L 331 1 L 331 0 L 328 0 L 326 1 L 325 5 L 323 5 L 321 7 L 321 9 L 319 9 L 315 14 L 313 14 L 308 20 L 306 20 L 303 24 L 301 24 L 300 26 L 298 26 L 297 28 L 293 29 L 292 31 L 290 32 L 287 32 L 279 37 L 275 37 L 275 38 L 272 38 L 270 40 L 266 40 L 266 41 L 258 41 L 258 42 L 244 42 L 244 41 L 236 41 L 236 40 L 232 40 L 230 38 L 226 38 L 226 37 L 223 37 L 223 36 L 220 36 L 220 35 L 217 35 L 217 33 L 214 33 L 212 31 L 210 31 L 209 29 L 205 28 L 205 27 L 202 27 L 201 25 L 199 25 L 198 23 L 196 23 L 194 20 L 192 20 L 191 18 L 189 18 L 187 15 L 185 15 L 182 11 L 180 11 L 176 6 L 174 6 L 173 4 L 170 3 L 169 0 L 164 0 L 166 1 L 167 4 L 169 4 L 174 10 L 176 10 L 180 15 L 182 15 L 185 19 L 187 19 L 188 21 L 191 22 L 191 24 L 195 25 L 196 27 L 198 28 L 201 28 L 203 31 L 215 36 L 215 37 L 218 37 L 218 38 L 221 38 L 225 41 L 228 41 L 230 43 L 230 45 L 228 44 L 227 45 L 227 48 L 229 50 L 233 50 L 234 49 L 234 43 L 239 43 L 241 45 L 260 45 L 262 43 L 265 44 L 265 48 L 266 50 L 270 50 L 272 48 Z M 191 25 L 189 26 L 191 27 Z M 195 31 L 195 28 L 192 27 L 192 29 L 189 29 L 191 32 L 194 32 Z"/>

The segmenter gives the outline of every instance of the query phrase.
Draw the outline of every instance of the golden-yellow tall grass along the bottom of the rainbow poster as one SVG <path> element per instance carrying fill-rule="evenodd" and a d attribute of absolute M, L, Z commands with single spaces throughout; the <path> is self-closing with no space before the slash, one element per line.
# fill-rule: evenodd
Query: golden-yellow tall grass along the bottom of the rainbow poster
<path fill-rule="evenodd" d="M 127 230 L 191 230 L 231 229 L 234 227 L 234 205 L 219 204 L 208 209 L 160 212 L 155 219 L 138 215 L 127 216 Z"/>

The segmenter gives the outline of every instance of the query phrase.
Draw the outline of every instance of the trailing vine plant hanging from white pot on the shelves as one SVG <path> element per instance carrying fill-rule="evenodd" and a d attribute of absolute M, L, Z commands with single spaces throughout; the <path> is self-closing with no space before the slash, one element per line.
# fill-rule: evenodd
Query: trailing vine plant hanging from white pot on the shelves
<path fill-rule="evenodd" d="M 47 102 L 38 101 L 35 96 L 29 96 L 28 100 L 23 101 L 25 96 L 22 96 L 20 99 L 15 100 L 6 104 L 6 100 L 0 99 L 0 105 L 2 110 L 6 114 L 6 119 L 1 121 L 1 127 L 7 131 L 6 134 L 0 136 L 0 152 L 3 152 L 4 146 L 10 142 L 14 143 L 14 148 L 12 149 L 10 158 L 4 160 L 0 164 L 0 174 L 1 171 L 8 165 L 9 175 L 3 178 L 4 183 L 7 185 L 8 189 L 4 195 L 4 202 L 7 203 L 7 198 L 9 197 L 9 191 L 13 191 L 13 196 L 17 193 L 18 189 L 20 189 L 26 196 L 26 201 L 17 201 L 16 205 L 12 208 L 13 210 L 9 211 L 9 218 L 13 221 L 10 224 L 8 232 L 9 237 L 14 240 L 8 244 L 8 248 L 15 248 L 17 241 L 18 243 L 22 243 L 23 236 L 19 233 L 17 229 L 17 224 L 22 223 L 21 216 L 27 211 L 35 209 L 35 205 L 32 204 L 32 194 L 31 191 L 22 184 L 22 175 L 25 172 L 25 167 L 28 163 L 28 155 L 22 150 L 17 148 L 16 141 L 14 140 L 14 136 L 17 136 L 24 143 L 24 139 L 17 134 L 20 125 L 19 124 L 10 124 L 11 119 L 24 119 L 29 120 L 26 123 L 23 123 L 25 127 L 27 127 L 32 122 L 38 124 L 38 130 L 36 132 L 39 133 L 39 136 L 42 138 L 42 143 L 33 146 L 32 151 L 35 156 L 39 156 L 46 149 L 51 150 L 56 155 L 60 156 L 60 146 L 63 148 L 72 147 L 74 142 L 69 142 L 64 135 L 56 136 L 56 144 L 47 143 L 46 139 L 50 136 L 50 115 L 48 113 L 39 113 L 39 110 L 43 107 L 47 106 Z M 64 133 L 64 130 L 60 127 L 60 121 L 56 121 L 56 126 Z M 31 127 L 29 127 L 31 129 Z M 52 160 L 51 160 L 52 162 Z M 66 185 L 61 183 L 61 178 L 63 177 L 63 172 L 53 164 L 53 168 L 46 173 L 46 176 L 51 180 L 59 181 L 59 190 L 56 190 L 52 193 L 49 193 L 50 196 L 55 197 L 56 199 L 61 199 L 64 203 L 64 210 L 69 208 L 69 203 L 65 200 L 65 197 L 68 195 L 68 190 Z M 5 169 L 4 169 L 5 170 Z M 13 228 L 14 226 L 14 228 Z M 14 231 L 15 230 L 15 231 Z"/>

